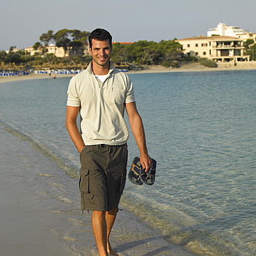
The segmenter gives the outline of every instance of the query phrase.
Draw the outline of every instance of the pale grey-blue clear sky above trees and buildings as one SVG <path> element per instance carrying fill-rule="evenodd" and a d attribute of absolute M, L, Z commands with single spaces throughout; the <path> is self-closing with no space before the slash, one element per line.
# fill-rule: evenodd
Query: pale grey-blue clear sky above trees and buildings
<path fill-rule="evenodd" d="M 219 22 L 256 33 L 255 10 L 255 0 L 1 0 L 0 51 L 62 28 L 105 28 L 116 42 L 206 36 Z"/>

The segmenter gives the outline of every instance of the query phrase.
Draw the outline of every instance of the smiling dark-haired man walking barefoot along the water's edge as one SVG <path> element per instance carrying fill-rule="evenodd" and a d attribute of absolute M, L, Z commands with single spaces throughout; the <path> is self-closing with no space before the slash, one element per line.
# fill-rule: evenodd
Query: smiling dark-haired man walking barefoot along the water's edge
<path fill-rule="evenodd" d="M 82 210 L 93 211 L 91 225 L 100 256 L 117 255 L 109 244 L 109 235 L 125 188 L 129 136 L 125 110 L 140 162 L 146 172 L 152 166 L 131 80 L 114 68 L 111 51 L 109 32 L 93 30 L 89 35 L 93 60 L 86 71 L 71 79 L 66 107 L 68 134 L 80 153 L 81 206 Z M 81 134 L 76 122 L 79 112 Z"/>

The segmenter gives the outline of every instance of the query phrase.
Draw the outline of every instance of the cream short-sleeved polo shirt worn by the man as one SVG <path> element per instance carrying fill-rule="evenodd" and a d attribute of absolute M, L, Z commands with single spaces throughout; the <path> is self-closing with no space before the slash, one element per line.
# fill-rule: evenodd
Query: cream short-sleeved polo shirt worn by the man
<path fill-rule="evenodd" d="M 95 77 L 91 63 L 69 82 L 67 106 L 80 107 L 85 145 L 127 143 L 129 131 L 124 119 L 124 103 L 134 101 L 130 78 L 112 63 L 103 83 Z"/>

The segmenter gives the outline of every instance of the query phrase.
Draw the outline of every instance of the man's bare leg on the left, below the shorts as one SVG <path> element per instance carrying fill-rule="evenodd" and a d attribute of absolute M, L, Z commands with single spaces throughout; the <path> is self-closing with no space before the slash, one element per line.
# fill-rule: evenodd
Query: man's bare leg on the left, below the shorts
<path fill-rule="evenodd" d="M 108 256 L 106 212 L 93 211 L 91 215 L 91 226 L 99 255 Z"/>

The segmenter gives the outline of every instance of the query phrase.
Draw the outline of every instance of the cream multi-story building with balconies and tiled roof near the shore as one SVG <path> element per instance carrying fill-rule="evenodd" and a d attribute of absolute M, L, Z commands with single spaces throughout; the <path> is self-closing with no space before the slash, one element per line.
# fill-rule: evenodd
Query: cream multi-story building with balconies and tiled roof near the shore
<path fill-rule="evenodd" d="M 244 41 L 238 37 L 212 36 L 188 37 L 176 40 L 183 46 L 183 53 L 206 57 L 215 62 L 249 61 L 245 55 Z"/>

